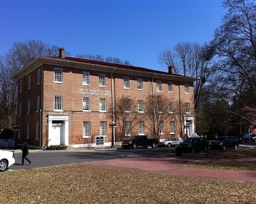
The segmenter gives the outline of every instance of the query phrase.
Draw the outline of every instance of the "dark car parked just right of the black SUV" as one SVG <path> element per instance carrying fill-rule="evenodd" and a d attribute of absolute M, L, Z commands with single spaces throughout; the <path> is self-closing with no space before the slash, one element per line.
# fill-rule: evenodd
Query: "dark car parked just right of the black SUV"
<path fill-rule="evenodd" d="M 238 137 L 233 136 L 220 136 L 215 140 L 210 141 L 209 147 L 211 150 L 221 149 L 226 150 L 227 148 L 237 149 L 239 146 Z"/>

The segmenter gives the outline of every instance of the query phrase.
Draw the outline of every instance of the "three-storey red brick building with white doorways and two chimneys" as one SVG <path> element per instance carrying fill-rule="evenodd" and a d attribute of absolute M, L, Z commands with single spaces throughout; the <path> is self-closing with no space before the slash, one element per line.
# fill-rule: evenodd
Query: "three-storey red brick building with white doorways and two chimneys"
<path fill-rule="evenodd" d="M 36 58 L 14 78 L 18 81 L 17 144 L 96 146 L 96 136 L 100 136 L 104 146 L 111 146 L 113 138 L 118 141 L 117 131 L 110 126 L 115 123 L 115 104 L 124 95 L 138 103 L 139 119 L 132 133 L 152 137 L 148 121 L 140 116 L 143 100 L 156 94 L 165 95 L 169 113 L 177 114 L 163 126 L 160 137 L 194 133 L 195 79 L 173 73 L 173 67 L 163 72 L 66 57 L 61 48 L 59 57 Z M 173 104 L 177 104 L 175 112 Z"/>

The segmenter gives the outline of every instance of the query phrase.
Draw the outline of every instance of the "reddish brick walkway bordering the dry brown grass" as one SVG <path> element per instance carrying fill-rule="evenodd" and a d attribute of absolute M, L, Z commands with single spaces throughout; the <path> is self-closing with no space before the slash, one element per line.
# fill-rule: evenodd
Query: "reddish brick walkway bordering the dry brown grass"
<path fill-rule="evenodd" d="M 250 161 L 256 158 L 250 158 Z M 197 160 L 193 160 L 196 162 Z M 202 160 L 198 160 L 202 161 Z M 221 161 L 221 160 L 218 160 Z M 212 169 L 190 169 L 185 167 L 178 167 L 182 163 L 189 163 L 189 159 L 180 157 L 164 157 L 164 158 L 148 158 L 148 157 L 132 157 L 119 158 L 113 160 L 100 160 L 85 165 L 95 165 L 99 167 L 108 167 L 113 169 L 126 169 L 132 171 L 142 171 L 147 173 L 156 173 L 162 175 L 175 175 L 185 177 L 201 177 L 221 180 L 246 181 L 256 182 L 255 171 L 231 171 L 231 170 L 212 170 Z M 204 162 L 211 162 L 211 160 Z M 243 160 L 236 160 L 236 162 L 246 162 Z"/>

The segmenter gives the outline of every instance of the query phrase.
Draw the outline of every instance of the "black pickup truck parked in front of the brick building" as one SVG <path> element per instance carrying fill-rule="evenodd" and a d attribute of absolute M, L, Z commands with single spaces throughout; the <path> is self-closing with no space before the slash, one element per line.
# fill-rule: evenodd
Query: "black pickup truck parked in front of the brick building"
<path fill-rule="evenodd" d="M 158 139 L 147 138 L 147 135 L 137 135 L 130 139 L 122 141 L 123 148 L 133 148 L 136 149 L 138 146 L 143 146 L 143 148 L 152 147 L 156 148 L 158 145 Z"/>

